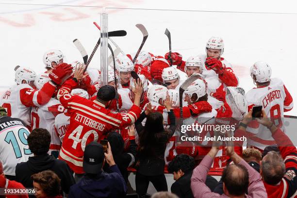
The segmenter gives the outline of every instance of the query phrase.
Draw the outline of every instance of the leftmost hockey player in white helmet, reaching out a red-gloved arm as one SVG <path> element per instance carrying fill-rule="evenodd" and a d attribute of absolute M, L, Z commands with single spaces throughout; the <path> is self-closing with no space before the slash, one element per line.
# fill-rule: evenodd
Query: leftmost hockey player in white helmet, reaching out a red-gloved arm
<path fill-rule="evenodd" d="M 49 102 L 55 92 L 56 84 L 72 72 L 72 67 L 66 63 L 53 69 L 49 74 L 51 81 L 44 84 L 42 89 L 32 88 L 35 72 L 26 67 L 16 69 L 16 85 L 5 92 L 0 99 L 0 105 L 7 110 L 8 116 L 20 118 L 25 125 L 31 128 L 31 107 L 41 106 Z"/>

